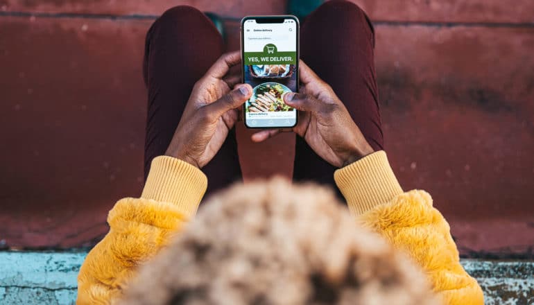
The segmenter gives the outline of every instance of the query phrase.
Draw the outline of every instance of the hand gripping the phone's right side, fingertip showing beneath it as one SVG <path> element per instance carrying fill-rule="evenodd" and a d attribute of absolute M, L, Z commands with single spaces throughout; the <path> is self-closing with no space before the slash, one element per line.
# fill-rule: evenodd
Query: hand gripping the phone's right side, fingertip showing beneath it
<path fill-rule="evenodd" d="M 372 153 L 371 146 L 334 90 L 302 60 L 299 73 L 300 93 L 284 94 L 284 103 L 300 110 L 299 121 L 293 131 L 333 166 L 347 166 Z M 265 141 L 283 131 L 262 130 L 252 134 L 252 141 Z"/>

